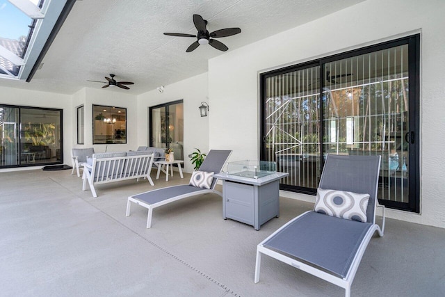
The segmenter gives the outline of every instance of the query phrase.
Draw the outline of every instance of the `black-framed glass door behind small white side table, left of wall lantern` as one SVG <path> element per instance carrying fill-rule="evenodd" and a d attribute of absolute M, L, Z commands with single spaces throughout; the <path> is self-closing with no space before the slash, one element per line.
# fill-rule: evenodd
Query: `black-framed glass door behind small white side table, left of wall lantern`
<path fill-rule="evenodd" d="M 175 159 L 184 160 L 183 100 L 150 107 L 149 118 L 149 145 L 171 148 Z"/>

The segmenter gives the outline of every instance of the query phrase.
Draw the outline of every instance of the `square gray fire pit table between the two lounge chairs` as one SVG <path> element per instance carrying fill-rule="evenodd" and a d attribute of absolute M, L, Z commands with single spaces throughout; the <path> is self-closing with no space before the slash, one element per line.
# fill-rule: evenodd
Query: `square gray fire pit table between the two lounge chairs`
<path fill-rule="evenodd" d="M 223 180 L 223 218 L 252 225 L 261 225 L 280 216 L 280 179 L 287 172 L 275 172 L 257 179 L 218 173 Z"/>

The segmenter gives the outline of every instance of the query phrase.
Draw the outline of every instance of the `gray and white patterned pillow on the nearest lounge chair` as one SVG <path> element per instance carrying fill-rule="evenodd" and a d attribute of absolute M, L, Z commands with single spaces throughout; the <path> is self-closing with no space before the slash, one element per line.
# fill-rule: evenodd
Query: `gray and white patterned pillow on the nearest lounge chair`
<path fill-rule="evenodd" d="M 317 189 L 314 211 L 337 218 L 366 222 L 369 194 Z"/>

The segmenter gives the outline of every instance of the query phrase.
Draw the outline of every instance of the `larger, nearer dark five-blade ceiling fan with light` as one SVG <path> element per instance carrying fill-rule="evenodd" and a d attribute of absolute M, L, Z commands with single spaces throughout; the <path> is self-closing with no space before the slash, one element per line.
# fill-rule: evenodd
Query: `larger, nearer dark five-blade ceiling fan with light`
<path fill-rule="evenodd" d="M 241 33 L 241 29 L 239 28 L 220 29 L 213 31 L 212 33 L 209 33 L 209 31 L 207 31 L 206 28 L 207 20 L 203 19 L 200 15 L 193 15 L 193 24 L 195 24 L 195 27 L 197 29 L 197 35 L 184 34 L 184 33 L 164 33 L 164 35 L 197 38 L 197 41 L 193 42 L 190 45 L 190 47 L 188 47 L 188 49 L 186 50 L 186 52 L 189 53 L 195 50 L 200 45 L 207 45 L 207 44 L 211 45 L 216 49 L 219 49 L 220 51 L 227 51 L 227 49 L 229 48 L 226 47 L 223 44 L 223 42 L 211 38 L 221 38 Z"/>

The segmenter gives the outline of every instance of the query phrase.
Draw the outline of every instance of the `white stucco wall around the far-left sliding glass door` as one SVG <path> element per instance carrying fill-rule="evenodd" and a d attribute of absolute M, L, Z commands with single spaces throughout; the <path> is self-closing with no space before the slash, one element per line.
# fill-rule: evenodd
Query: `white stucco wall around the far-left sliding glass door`
<path fill-rule="evenodd" d="M 38 92 L 33 90 L 22 90 L 17 88 L 0 87 L 0 104 L 9 104 L 17 106 L 32 106 L 32 107 L 46 107 L 50 109 L 63 110 L 63 154 L 64 162 L 69 162 L 72 147 L 72 106 L 71 96 Z M 29 169 L 40 168 L 30 167 Z M 1 169 L 0 172 L 16 170 L 16 169 Z M 22 168 L 23 170 L 23 168 Z"/>

